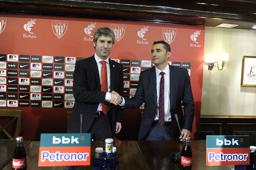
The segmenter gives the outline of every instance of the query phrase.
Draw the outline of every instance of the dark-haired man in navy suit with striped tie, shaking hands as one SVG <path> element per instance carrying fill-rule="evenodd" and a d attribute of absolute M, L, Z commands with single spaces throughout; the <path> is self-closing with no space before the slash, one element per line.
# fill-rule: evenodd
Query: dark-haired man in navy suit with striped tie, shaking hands
<path fill-rule="evenodd" d="M 145 102 L 139 140 L 181 140 L 174 114 L 178 115 L 183 137 L 189 137 L 194 119 L 194 101 L 187 69 L 170 66 L 171 48 L 165 41 L 153 43 L 154 67 L 141 72 L 135 96 L 125 98 L 121 106 L 139 108 Z M 182 105 L 184 107 L 184 116 Z"/>

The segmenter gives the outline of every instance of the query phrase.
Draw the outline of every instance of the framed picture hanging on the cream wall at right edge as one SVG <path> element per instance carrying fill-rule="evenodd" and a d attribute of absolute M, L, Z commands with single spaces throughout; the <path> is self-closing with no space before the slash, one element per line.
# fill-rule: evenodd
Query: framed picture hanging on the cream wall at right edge
<path fill-rule="evenodd" d="M 241 86 L 256 87 L 256 56 L 243 56 Z"/>

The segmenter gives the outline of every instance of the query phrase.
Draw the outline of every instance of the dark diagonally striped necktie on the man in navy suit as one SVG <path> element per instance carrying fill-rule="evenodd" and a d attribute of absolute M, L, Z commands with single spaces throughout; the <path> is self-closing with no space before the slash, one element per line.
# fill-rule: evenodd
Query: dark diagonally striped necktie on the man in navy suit
<path fill-rule="evenodd" d="M 164 125 L 164 72 L 161 72 L 160 87 L 159 87 L 159 111 L 158 123 Z"/>

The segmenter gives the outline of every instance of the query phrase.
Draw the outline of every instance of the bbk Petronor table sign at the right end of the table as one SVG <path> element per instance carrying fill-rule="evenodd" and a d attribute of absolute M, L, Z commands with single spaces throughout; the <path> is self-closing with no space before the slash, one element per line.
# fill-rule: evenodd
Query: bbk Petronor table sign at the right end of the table
<path fill-rule="evenodd" d="M 207 166 L 249 165 L 249 136 L 207 136 Z"/>

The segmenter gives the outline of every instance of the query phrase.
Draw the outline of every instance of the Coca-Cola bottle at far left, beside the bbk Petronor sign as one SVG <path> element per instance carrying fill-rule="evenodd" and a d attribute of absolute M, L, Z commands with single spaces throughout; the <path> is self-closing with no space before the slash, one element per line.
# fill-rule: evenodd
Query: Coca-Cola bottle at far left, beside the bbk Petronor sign
<path fill-rule="evenodd" d="M 26 151 L 23 146 L 23 137 L 16 138 L 16 148 L 13 154 L 13 170 L 26 170 Z"/>

